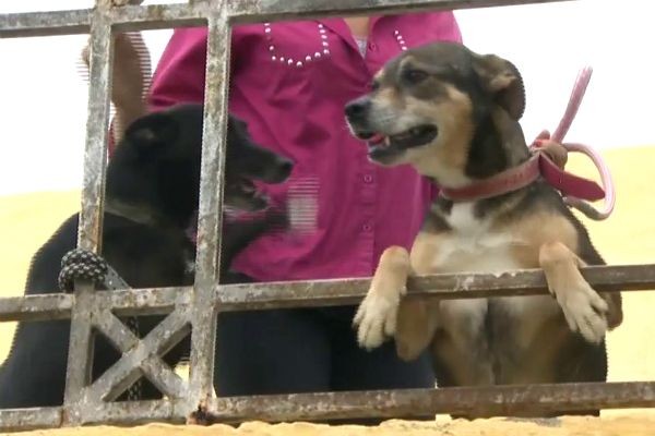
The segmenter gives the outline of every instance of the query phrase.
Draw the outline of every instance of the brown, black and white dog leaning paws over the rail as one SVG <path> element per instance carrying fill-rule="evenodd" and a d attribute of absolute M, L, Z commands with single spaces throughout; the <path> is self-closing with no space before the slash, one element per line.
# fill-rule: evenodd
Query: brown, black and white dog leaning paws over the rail
<path fill-rule="evenodd" d="M 371 160 L 409 164 L 439 186 L 461 189 L 528 161 L 519 124 L 524 94 L 512 63 L 438 43 L 388 63 L 346 117 L 369 142 Z M 429 347 L 439 386 L 603 382 L 605 335 L 621 323 L 621 296 L 598 294 L 579 271 L 603 264 L 583 225 L 540 179 L 479 199 L 440 196 L 412 253 L 383 253 L 355 317 L 358 340 L 371 349 L 394 337 L 405 360 Z M 555 299 L 402 300 L 409 275 L 539 267 Z"/>

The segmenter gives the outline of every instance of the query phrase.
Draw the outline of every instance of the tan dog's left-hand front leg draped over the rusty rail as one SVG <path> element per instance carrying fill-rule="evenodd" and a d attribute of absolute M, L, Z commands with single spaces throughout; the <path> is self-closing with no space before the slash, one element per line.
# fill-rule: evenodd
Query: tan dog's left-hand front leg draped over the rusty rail
<path fill-rule="evenodd" d="M 390 246 L 380 263 L 353 324 L 357 340 L 367 350 L 380 347 L 386 337 L 395 334 L 401 298 L 406 293 L 409 275 L 409 253 L 402 246 Z"/>

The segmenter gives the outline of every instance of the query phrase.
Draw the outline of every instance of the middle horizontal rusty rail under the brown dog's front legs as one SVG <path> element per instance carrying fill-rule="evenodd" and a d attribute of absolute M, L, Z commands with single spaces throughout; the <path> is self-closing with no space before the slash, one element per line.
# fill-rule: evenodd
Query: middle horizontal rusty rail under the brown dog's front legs
<path fill-rule="evenodd" d="M 655 289 L 655 265 L 593 266 L 582 275 L 597 291 L 646 291 Z M 218 286 L 219 311 L 272 307 L 334 306 L 357 304 L 370 279 L 291 281 Z M 412 277 L 407 295 L 440 299 L 547 294 L 540 269 L 503 274 L 442 274 Z"/>

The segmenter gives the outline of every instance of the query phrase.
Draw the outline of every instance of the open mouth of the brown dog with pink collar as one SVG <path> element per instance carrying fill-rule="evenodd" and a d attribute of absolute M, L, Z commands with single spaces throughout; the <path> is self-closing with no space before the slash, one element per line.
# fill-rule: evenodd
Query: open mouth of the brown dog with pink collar
<path fill-rule="evenodd" d="M 434 141 L 439 130 L 433 124 L 421 124 L 395 135 L 360 132 L 358 136 L 368 142 L 372 158 L 395 154 L 407 148 L 420 147 Z"/>

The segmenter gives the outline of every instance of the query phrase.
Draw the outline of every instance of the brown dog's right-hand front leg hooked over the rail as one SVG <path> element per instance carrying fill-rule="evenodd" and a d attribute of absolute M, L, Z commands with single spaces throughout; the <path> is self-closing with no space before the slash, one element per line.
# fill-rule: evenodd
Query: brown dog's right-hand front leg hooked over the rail
<path fill-rule="evenodd" d="M 607 331 L 608 305 L 582 277 L 582 259 L 561 242 L 549 242 L 539 250 L 539 265 L 571 330 L 599 343 Z"/>

